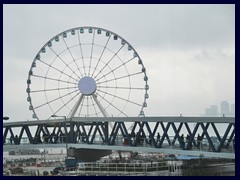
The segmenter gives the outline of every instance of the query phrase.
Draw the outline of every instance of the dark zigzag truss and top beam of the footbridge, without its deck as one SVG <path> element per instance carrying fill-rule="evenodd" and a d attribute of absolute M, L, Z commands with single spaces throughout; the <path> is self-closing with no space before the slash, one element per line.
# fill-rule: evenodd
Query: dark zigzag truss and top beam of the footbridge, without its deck
<path fill-rule="evenodd" d="M 87 120 L 87 119 L 86 119 Z M 221 152 L 223 148 L 230 145 L 235 141 L 235 118 L 207 118 L 204 121 L 196 121 L 194 118 L 183 119 L 182 117 L 174 117 L 172 120 L 163 117 L 155 118 L 98 118 L 95 121 L 83 121 L 81 118 L 63 120 L 48 120 L 48 121 L 35 121 L 35 122 L 16 122 L 4 123 L 3 127 L 3 142 L 12 144 L 20 144 L 22 139 L 27 139 L 30 144 L 39 143 L 86 143 L 86 144 L 107 144 L 115 145 L 116 139 L 121 137 L 124 145 L 138 146 L 141 140 L 151 141 L 153 148 L 161 148 L 164 141 L 167 141 L 169 146 L 174 146 L 176 142 L 181 145 L 181 133 L 185 130 L 188 133 L 188 140 L 184 142 L 183 150 L 191 149 L 192 145 L 197 146 L 196 134 L 201 132 L 201 138 L 206 138 L 209 144 L 209 151 Z M 108 120 L 108 121 L 106 121 Z M 126 120 L 126 121 L 124 121 Z M 112 128 L 109 124 L 113 123 Z M 129 123 L 131 126 L 129 127 Z M 194 127 L 190 128 L 190 124 L 194 123 Z M 216 124 L 225 123 L 227 128 L 225 131 L 219 131 Z M 214 131 L 219 145 L 215 146 L 212 138 L 208 132 L 209 127 Z M 18 131 L 16 130 L 18 129 Z M 20 131 L 19 131 L 20 129 Z M 170 129 L 173 133 L 173 139 L 169 137 Z M 24 132 L 26 137 L 23 137 Z M 66 136 L 66 132 L 68 135 Z M 161 134 L 160 138 L 157 133 Z M 34 136 L 33 136 L 34 135 Z M 17 140 L 15 137 L 17 136 Z M 14 138 L 13 138 L 14 137 Z"/>

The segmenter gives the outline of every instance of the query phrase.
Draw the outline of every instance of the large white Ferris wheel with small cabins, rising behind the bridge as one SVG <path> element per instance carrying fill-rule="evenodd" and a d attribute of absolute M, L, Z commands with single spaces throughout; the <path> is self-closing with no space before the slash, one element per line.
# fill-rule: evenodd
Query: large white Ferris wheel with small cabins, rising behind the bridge
<path fill-rule="evenodd" d="M 98 27 L 77 27 L 51 38 L 36 54 L 27 79 L 33 118 L 144 116 L 146 68 L 124 38 Z"/>

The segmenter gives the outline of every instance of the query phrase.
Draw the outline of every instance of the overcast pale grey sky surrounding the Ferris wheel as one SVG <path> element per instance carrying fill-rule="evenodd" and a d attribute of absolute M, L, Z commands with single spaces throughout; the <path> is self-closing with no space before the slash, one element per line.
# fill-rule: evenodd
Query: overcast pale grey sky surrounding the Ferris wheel
<path fill-rule="evenodd" d="M 30 65 L 56 34 L 81 26 L 109 29 L 138 52 L 149 77 L 147 116 L 200 115 L 235 103 L 235 6 L 3 5 L 3 115 L 32 119 Z M 136 115 L 137 116 L 137 115 Z"/>

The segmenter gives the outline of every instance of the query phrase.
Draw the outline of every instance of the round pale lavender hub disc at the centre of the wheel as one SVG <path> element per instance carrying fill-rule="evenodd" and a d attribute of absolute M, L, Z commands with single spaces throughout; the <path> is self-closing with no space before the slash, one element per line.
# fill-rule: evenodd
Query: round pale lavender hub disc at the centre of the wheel
<path fill-rule="evenodd" d="M 90 76 L 84 76 L 78 82 L 78 89 L 83 95 L 90 96 L 97 89 L 96 81 Z"/>

